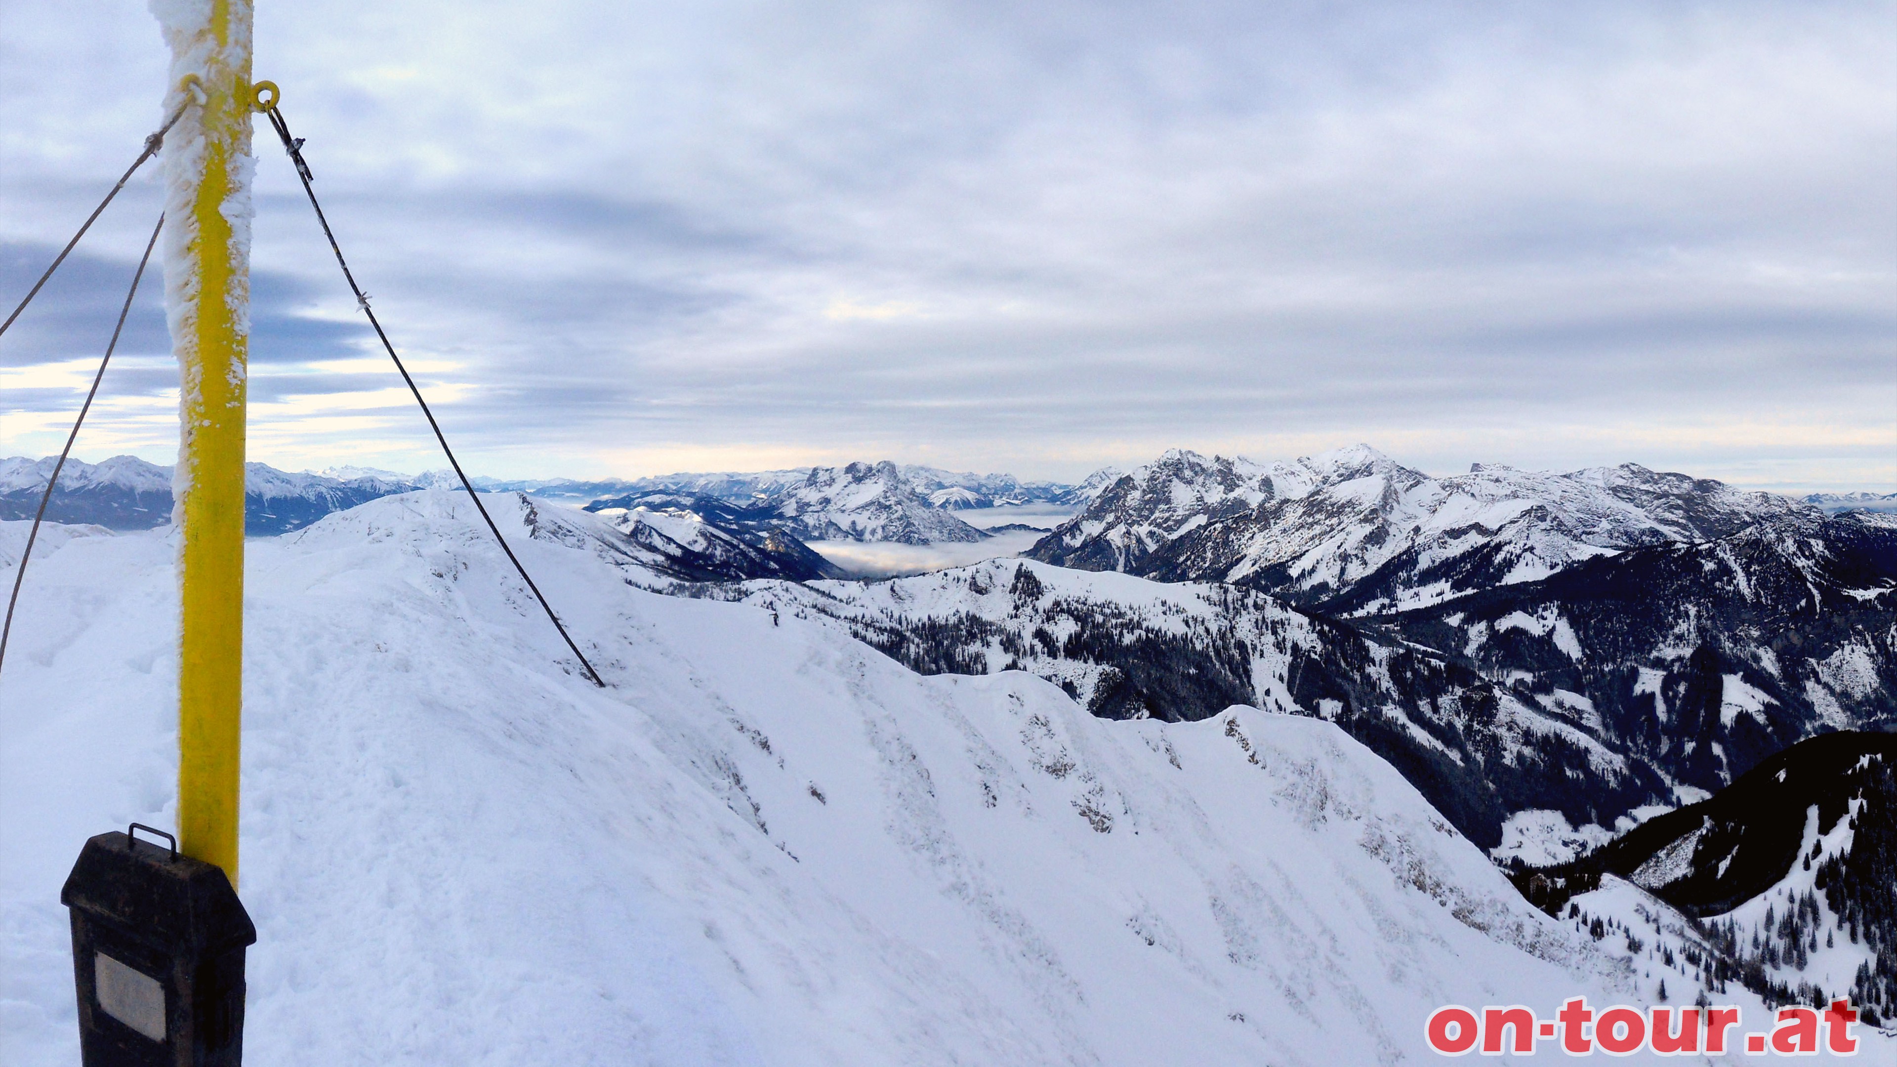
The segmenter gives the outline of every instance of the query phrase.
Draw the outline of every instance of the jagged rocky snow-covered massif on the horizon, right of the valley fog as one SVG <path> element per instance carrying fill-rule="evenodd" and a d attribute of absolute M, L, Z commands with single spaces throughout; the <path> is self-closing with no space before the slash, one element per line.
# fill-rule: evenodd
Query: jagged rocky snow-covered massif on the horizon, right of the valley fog
<path fill-rule="evenodd" d="M 1366 444 L 1269 465 L 1172 450 L 1096 496 L 1034 558 L 1372 613 L 1796 511 L 1810 509 L 1633 463 L 1569 475 L 1478 463 L 1430 478 Z"/>

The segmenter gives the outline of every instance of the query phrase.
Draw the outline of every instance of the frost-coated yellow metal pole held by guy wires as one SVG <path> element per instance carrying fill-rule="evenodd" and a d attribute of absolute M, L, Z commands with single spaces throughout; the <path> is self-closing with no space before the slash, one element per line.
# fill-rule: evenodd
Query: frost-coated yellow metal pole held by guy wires
<path fill-rule="evenodd" d="M 250 0 L 159 15 L 175 93 L 197 106 L 165 139 L 165 304 L 182 421 L 178 847 L 237 885 L 243 706 L 243 461 L 250 332 Z M 188 13 L 186 13 L 188 11 Z M 209 15 L 205 21 L 199 17 Z M 184 19 L 184 21 L 176 21 Z M 171 104 L 184 97 L 173 97 Z"/>

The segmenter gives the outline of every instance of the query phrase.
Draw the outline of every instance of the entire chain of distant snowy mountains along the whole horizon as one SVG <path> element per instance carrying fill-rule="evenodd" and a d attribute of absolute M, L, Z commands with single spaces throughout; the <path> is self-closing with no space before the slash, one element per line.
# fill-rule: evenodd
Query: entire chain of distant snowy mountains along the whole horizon
<path fill-rule="evenodd" d="M 0 459 L 0 518 L 30 518 L 51 459 Z M 1167 452 L 1072 486 L 939 467 L 850 463 L 649 478 L 472 478 L 594 511 L 658 509 L 801 539 L 977 541 L 943 513 L 1062 505 L 1083 509 L 1034 558 L 1161 581 L 1235 581 L 1330 611 L 1413 608 L 1576 560 L 1730 534 L 1770 515 L 1897 511 L 1897 494 L 1791 499 L 1637 465 L 1546 475 L 1476 465 L 1430 478 L 1368 446 L 1280 463 Z M 417 488 L 457 488 L 450 471 L 374 467 L 321 473 L 249 465 L 249 532 L 281 534 L 332 511 Z M 70 461 L 49 516 L 112 530 L 163 526 L 171 467 L 131 456 Z"/>

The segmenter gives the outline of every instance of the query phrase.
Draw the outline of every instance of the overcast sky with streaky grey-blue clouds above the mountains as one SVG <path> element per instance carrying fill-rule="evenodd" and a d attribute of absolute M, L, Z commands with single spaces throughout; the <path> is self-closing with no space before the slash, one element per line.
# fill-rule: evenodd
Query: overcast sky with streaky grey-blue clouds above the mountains
<path fill-rule="evenodd" d="M 1897 490 L 1897 4 L 264 0 L 470 465 L 1077 478 L 1364 440 Z M 0 304 L 157 120 L 140 0 L 0 0 Z M 250 452 L 438 467 L 258 137 Z M 156 167 L 0 338 L 57 452 Z M 78 454 L 169 461 L 156 296 Z"/>

